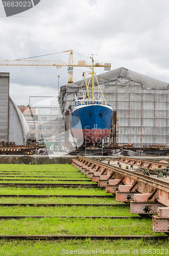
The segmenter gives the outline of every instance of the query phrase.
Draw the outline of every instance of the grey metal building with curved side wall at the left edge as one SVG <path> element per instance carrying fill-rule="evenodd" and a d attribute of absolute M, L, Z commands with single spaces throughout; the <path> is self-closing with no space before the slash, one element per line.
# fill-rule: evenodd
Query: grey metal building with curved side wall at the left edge
<path fill-rule="evenodd" d="M 9 96 L 9 73 L 0 73 L 0 140 L 27 145 L 29 136 L 25 117 Z"/>

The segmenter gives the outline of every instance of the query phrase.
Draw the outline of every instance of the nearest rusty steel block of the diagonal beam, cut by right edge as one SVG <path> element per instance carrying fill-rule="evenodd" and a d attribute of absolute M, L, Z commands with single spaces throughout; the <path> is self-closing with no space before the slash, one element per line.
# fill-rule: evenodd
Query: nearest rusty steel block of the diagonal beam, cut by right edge
<path fill-rule="evenodd" d="M 158 216 L 153 216 L 153 231 L 169 234 L 169 207 L 158 208 Z"/>

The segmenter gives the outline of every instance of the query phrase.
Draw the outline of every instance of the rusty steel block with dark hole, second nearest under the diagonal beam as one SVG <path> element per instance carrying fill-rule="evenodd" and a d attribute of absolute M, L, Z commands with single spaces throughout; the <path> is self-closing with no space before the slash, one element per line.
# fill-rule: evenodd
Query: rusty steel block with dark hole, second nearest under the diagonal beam
<path fill-rule="evenodd" d="M 163 205 L 157 202 L 130 202 L 130 212 L 131 214 L 157 214 L 158 207 Z"/>

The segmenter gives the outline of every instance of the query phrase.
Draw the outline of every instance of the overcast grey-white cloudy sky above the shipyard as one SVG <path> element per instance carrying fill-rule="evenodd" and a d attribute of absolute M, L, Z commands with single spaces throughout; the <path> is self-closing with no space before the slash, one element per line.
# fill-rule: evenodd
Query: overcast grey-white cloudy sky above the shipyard
<path fill-rule="evenodd" d="M 68 63 L 64 51 L 73 49 L 74 62 L 93 53 L 96 61 L 111 62 L 111 70 L 125 67 L 169 82 L 168 10 L 168 0 L 41 0 L 6 17 L 0 2 L 0 59 L 58 53 L 33 59 Z M 83 71 L 74 68 L 74 81 Z M 18 105 L 29 104 L 29 96 L 57 96 L 58 75 L 60 86 L 68 80 L 66 67 L 1 66 L 0 72 L 10 72 L 10 96 Z"/>

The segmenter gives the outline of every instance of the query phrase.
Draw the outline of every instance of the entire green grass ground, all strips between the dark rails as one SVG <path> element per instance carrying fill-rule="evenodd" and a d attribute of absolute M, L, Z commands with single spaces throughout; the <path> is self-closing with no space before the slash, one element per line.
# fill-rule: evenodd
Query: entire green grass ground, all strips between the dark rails
<path fill-rule="evenodd" d="M 13 173 L 12 173 L 13 172 Z M 14 172 L 19 173 L 16 174 Z M 67 179 L 87 179 L 77 168 L 72 165 L 26 165 L 26 164 L 0 164 L 0 173 L 4 173 L 5 178 L 12 176 L 67 176 Z M 16 174 L 16 175 L 15 175 Z M 2 174 L 1 174 L 2 175 Z M 3 175 L 2 175 L 3 176 Z M 0 177 L 2 177 L 0 176 Z M 18 177 L 16 177 L 18 179 Z M 23 179 L 23 178 L 21 178 Z M 44 178 L 44 180 L 47 178 Z M 51 178 L 50 178 L 51 179 Z M 56 179 L 56 178 L 55 178 Z M 66 178 L 64 178 L 66 179 Z M 19 183 L 20 181 L 16 181 Z M 22 181 L 23 183 L 30 183 Z M 44 181 L 45 183 L 52 181 Z M 65 183 L 54 181 L 55 183 Z M 77 181 L 79 183 L 79 181 Z M 2 181 L 5 183 L 5 181 Z M 14 183 L 12 181 L 12 183 Z M 38 181 L 31 181 L 38 183 Z M 42 182 L 39 182 L 42 183 Z M 76 182 L 69 182 L 76 183 Z M 83 181 L 82 183 L 85 183 Z M 90 182 L 86 182 L 89 184 Z M 93 183 L 92 183 L 93 184 Z M 106 194 L 105 189 L 100 188 L 15 188 L 1 187 L 0 194 L 3 195 L 110 195 Z M 1 203 L 119 203 L 115 202 L 115 198 L 5 198 L 0 197 Z M 0 207 L 0 215 L 26 215 L 26 216 L 137 216 L 130 214 L 129 206 L 124 207 L 85 207 L 85 206 L 60 206 L 60 207 Z M 69 218 L 42 218 L 42 219 L 9 219 L 0 220 L 0 234 L 90 234 L 90 235 L 164 235 L 164 233 L 154 233 L 152 231 L 152 220 L 146 219 L 69 219 Z M 95 250 L 113 250 L 113 255 L 122 255 L 118 250 L 129 250 L 130 255 L 134 255 L 133 250 L 137 249 L 136 255 L 145 255 L 141 253 L 141 249 L 168 249 L 167 241 L 0 241 L 0 256 L 54 256 L 63 255 L 62 249 L 69 252 L 65 255 L 72 254 L 70 250 L 84 249 Z M 153 251 L 152 251 L 153 252 Z M 161 251 L 162 252 L 162 251 Z M 168 250 L 169 252 L 169 250 Z M 101 253 L 98 252 L 98 255 Z M 106 253 L 105 253 L 106 254 Z M 125 254 L 125 253 L 124 253 Z M 153 255 L 162 255 L 152 253 Z M 152 255 L 147 254 L 147 255 Z M 164 253 L 165 251 L 164 251 Z M 77 254 L 75 254 L 77 255 Z M 82 254 L 83 255 L 83 254 Z M 85 254 L 84 254 L 85 255 Z M 88 254 L 89 255 L 89 254 Z M 95 254 L 91 254 L 95 255 Z"/>

